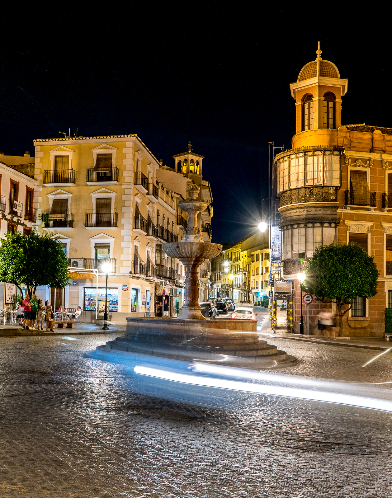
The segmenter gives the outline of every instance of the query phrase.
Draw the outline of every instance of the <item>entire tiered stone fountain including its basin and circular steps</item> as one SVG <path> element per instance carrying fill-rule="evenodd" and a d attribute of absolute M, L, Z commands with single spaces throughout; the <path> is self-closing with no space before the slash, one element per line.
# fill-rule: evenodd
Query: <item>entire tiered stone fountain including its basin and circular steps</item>
<path fill-rule="evenodd" d="M 217 256 L 222 246 L 205 243 L 197 226 L 198 213 L 207 208 L 206 202 L 196 200 L 199 192 L 199 187 L 192 184 L 187 189 L 189 199 L 179 203 L 181 210 L 189 215 L 181 241 L 163 245 L 163 250 L 169 256 L 179 258 L 186 268 L 181 314 L 177 318 L 127 317 L 125 337 L 99 346 L 96 356 L 109 361 L 113 358 L 124 361 L 127 355 L 131 358 L 135 354 L 191 362 L 197 359 L 251 369 L 293 365 L 294 357 L 259 339 L 256 321 L 209 319 L 201 314 L 198 268 L 206 259 Z"/>

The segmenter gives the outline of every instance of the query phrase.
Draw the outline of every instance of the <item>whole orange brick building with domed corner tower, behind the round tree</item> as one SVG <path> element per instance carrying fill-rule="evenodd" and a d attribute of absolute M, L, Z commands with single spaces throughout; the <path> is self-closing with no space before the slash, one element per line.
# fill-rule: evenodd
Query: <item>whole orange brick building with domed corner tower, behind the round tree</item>
<path fill-rule="evenodd" d="M 296 105 L 292 149 L 274 158 L 283 278 L 296 289 L 293 328 L 299 332 L 297 273 L 320 245 L 356 242 L 375 256 L 378 293 L 354 300 L 343 319 L 343 335 L 383 336 L 385 308 L 392 307 L 392 128 L 342 125 L 348 80 L 322 60 L 320 46 L 316 54 L 290 85 Z M 309 305 L 312 334 L 320 334 L 322 309 L 337 316 L 335 305 L 314 300 Z M 306 306 L 303 316 L 306 334 Z"/>

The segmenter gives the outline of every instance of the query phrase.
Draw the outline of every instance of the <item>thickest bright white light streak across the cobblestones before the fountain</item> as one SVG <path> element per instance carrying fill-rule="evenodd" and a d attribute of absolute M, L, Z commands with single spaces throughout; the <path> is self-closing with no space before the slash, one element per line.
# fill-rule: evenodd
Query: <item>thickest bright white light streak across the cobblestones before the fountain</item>
<path fill-rule="evenodd" d="M 190 375 L 184 373 L 174 373 L 164 370 L 152 369 L 149 367 L 134 367 L 134 372 L 141 375 L 181 382 L 190 385 L 203 385 L 206 387 L 217 387 L 221 389 L 232 389 L 243 392 L 255 392 L 259 394 L 268 394 L 272 396 L 285 396 L 298 399 L 310 399 L 313 401 L 325 401 L 328 403 L 338 403 L 350 406 L 360 406 L 362 408 L 372 408 L 392 412 L 392 402 L 383 399 L 373 399 L 349 394 L 340 394 L 337 392 L 314 391 L 309 389 L 298 389 L 294 387 L 281 387 L 264 384 L 251 384 L 238 380 L 226 380 L 211 377 L 202 377 L 199 375 Z"/>

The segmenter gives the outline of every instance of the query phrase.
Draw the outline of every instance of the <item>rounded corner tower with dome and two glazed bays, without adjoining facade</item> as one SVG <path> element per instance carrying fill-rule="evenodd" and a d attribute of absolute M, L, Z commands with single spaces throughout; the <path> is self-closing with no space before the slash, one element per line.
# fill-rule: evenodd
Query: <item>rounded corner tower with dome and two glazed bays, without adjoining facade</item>
<path fill-rule="evenodd" d="M 293 148 L 277 154 L 276 190 L 280 196 L 283 278 L 294 280 L 319 246 L 338 241 L 338 190 L 344 147 L 338 145 L 341 97 L 347 80 L 335 64 L 320 57 L 290 85 L 296 99 Z"/>

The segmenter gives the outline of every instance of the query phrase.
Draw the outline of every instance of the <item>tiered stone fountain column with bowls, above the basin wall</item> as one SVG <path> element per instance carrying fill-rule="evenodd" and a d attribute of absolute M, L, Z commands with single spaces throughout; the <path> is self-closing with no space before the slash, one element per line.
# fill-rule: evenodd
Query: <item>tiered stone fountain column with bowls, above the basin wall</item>
<path fill-rule="evenodd" d="M 197 273 L 205 259 L 217 256 L 222 250 L 220 244 L 205 243 L 201 228 L 197 226 L 197 214 L 207 209 L 206 202 L 196 201 L 199 191 L 200 188 L 192 184 L 187 189 L 189 199 L 178 203 L 179 208 L 189 215 L 188 227 L 184 229 L 181 242 L 163 245 L 163 250 L 169 256 L 179 258 L 186 268 L 185 298 L 178 317 L 181 320 L 209 320 L 200 311 Z"/>

